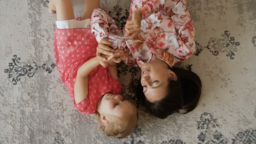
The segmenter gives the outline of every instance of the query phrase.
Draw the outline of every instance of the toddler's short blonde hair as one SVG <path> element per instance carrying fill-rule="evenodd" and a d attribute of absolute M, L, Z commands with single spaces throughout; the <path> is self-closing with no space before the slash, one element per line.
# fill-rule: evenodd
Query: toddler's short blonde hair
<path fill-rule="evenodd" d="M 101 114 L 96 112 L 95 115 L 101 131 L 104 131 L 107 136 L 114 136 L 118 139 L 123 139 L 130 135 L 133 132 L 138 120 L 137 114 L 129 115 L 126 117 L 126 119 L 123 117 L 117 117 L 115 115 L 107 115 L 109 122 L 105 125 L 101 121 Z"/>

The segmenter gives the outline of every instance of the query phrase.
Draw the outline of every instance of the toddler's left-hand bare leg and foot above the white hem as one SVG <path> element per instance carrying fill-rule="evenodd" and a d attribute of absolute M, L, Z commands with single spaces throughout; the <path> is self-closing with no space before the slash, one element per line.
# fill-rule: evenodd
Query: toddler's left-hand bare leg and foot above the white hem
<path fill-rule="evenodd" d="M 49 12 L 56 13 L 57 21 L 75 19 L 71 0 L 51 0 Z"/>

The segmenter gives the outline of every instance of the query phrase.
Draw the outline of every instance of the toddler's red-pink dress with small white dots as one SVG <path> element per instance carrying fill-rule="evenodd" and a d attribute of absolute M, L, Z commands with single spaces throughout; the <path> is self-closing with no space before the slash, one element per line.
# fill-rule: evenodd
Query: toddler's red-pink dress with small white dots
<path fill-rule="evenodd" d="M 98 42 L 90 28 L 58 29 L 54 37 L 54 55 L 61 81 L 67 87 L 75 108 L 83 114 L 94 114 L 96 105 L 105 93 L 120 94 L 122 85 L 107 68 L 98 66 L 88 75 L 88 97 L 76 104 L 74 85 L 77 70 L 96 56 Z"/>

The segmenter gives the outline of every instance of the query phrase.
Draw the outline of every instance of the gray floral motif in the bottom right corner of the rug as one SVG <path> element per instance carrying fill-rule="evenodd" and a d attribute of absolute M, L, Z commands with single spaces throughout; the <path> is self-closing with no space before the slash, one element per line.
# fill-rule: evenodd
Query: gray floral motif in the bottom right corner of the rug
<path fill-rule="evenodd" d="M 256 144 L 256 129 L 240 131 L 232 139 L 232 144 Z"/>

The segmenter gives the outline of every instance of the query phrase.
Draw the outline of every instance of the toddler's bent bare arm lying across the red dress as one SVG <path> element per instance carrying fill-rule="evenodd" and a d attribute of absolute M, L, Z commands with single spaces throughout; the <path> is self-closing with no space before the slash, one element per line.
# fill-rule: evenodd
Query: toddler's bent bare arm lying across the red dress
<path fill-rule="evenodd" d="M 78 70 L 74 85 L 75 103 L 78 104 L 88 96 L 88 75 L 99 66 L 97 58 L 85 62 Z"/>

